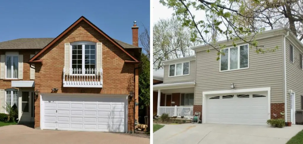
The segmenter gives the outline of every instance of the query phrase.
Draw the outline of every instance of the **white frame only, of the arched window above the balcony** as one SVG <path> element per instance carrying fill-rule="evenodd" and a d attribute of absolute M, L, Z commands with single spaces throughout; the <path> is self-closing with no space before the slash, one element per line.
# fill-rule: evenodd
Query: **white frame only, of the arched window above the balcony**
<path fill-rule="evenodd" d="M 84 59 L 85 59 L 85 46 L 84 45 L 95 45 L 95 69 L 97 70 L 97 65 L 96 65 L 96 62 L 97 62 L 97 43 L 94 43 L 94 42 L 90 42 L 90 41 L 77 41 L 77 42 L 73 42 L 73 43 L 70 43 L 69 45 L 69 51 L 70 51 L 70 54 L 69 54 L 69 65 L 70 65 L 70 68 L 72 68 L 72 45 L 82 45 L 82 74 L 73 74 L 71 70 L 69 70 L 69 73 L 70 75 L 87 75 L 87 76 L 94 76 L 96 74 L 85 74 L 85 72 L 83 73 L 83 69 L 85 69 L 85 63 L 84 63 Z M 84 49 L 83 49 L 84 48 Z"/>

